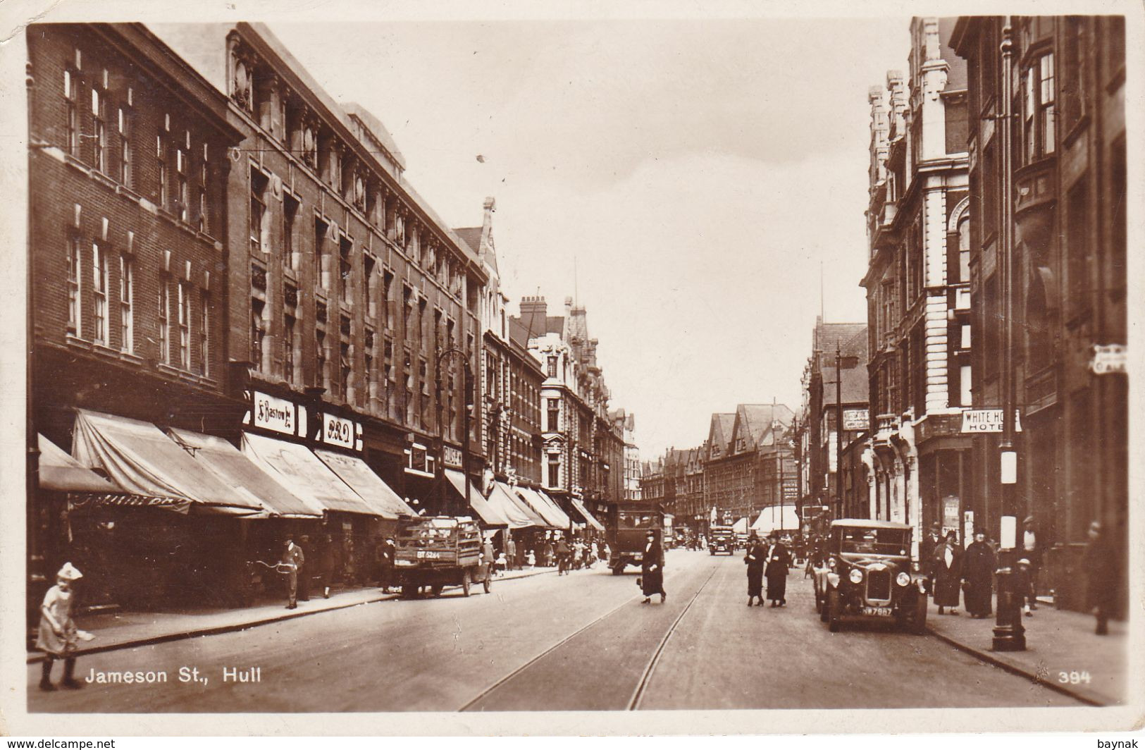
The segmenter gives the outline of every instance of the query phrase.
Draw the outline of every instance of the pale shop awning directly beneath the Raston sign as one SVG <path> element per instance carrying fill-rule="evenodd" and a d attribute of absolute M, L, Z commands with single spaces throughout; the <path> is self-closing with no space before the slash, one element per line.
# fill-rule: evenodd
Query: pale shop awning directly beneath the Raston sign
<path fill-rule="evenodd" d="M 243 433 L 243 455 L 313 507 L 374 514 L 373 508 L 306 445 Z"/>

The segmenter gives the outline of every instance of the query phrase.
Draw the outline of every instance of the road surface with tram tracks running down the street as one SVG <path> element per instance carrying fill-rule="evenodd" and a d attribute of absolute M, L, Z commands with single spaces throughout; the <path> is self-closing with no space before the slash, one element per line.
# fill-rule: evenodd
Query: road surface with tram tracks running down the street
<path fill-rule="evenodd" d="M 1080 705 L 929 635 L 830 633 L 793 570 L 788 606 L 751 607 L 742 554 L 674 550 L 668 601 L 600 567 L 390 600 L 79 660 L 77 677 L 166 682 L 42 693 L 49 712 L 531 711 Z M 187 681 L 181 681 L 182 674 Z M 58 679 L 61 666 L 55 668 Z M 192 670 L 198 670 L 194 672 Z M 256 670 L 256 671 L 253 671 Z M 230 677 L 231 679 L 224 679 Z M 238 681 L 239 677 L 258 681 Z"/>

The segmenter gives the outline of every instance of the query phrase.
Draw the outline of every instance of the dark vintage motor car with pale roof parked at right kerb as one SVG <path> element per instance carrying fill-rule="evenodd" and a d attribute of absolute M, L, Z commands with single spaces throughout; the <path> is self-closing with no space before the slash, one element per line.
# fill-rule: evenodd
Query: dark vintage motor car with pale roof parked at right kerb
<path fill-rule="evenodd" d="M 914 633 L 926 629 L 926 577 L 910 555 L 911 527 L 890 521 L 832 521 L 815 568 L 815 609 L 830 631 L 844 617 L 893 618 Z"/>

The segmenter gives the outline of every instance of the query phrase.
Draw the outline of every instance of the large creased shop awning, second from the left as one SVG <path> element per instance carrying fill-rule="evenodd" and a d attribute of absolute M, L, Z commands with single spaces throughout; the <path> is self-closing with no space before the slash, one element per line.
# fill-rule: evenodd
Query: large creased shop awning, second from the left
<path fill-rule="evenodd" d="M 150 423 L 78 410 L 72 456 L 135 495 L 182 498 L 259 512 L 254 498 L 229 487 Z"/>

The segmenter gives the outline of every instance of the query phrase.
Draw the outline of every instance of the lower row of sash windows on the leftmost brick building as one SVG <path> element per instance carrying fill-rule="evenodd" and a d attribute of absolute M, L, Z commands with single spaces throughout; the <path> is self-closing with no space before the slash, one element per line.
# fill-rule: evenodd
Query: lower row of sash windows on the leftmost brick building
<path fill-rule="evenodd" d="M 88 253 L 85 250 L 89 248 Z M 111 266 L 117 269 L 118 292 L 112 295 Z M 116 261 L 98 242 L 90 245 L 73 236 L 68 247 L 68 333 L 93 344 L 118 348 L 135 354 L 135 266 L 129 255 L 120 254 Z M 159 358 L 181 370 L 192 370 L 191 305 L 194 290 L 187 282 L 174 282 L 163 275 L 158 284 L 157 319 Z M 117 321 L 112 319 L 112 311 Z M 90 323 L 85 314 L 90 313 Z M 197 372 L 210 376 L 211 299 L 204 291 L 199 295 Z M 118 327 L 114 325 L 118 324 Z M 173 338 L 174 334 L 174 338 Z"/>

